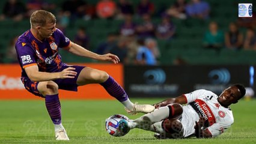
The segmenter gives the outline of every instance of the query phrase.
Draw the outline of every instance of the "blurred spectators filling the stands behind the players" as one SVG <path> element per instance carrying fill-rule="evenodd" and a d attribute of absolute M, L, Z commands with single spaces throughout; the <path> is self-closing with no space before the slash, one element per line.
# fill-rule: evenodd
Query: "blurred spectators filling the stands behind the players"
<path fill-rule="evenodd" d="M 13 19 L 19 21 L 29 19 L 35 10 L 47 10 L 55 14 L 56 27 L 65 32 L 70 23 L 76 19 L 118 19 L 123 20 L 118 32 L 108 34 L 102 43 L 99 43 L 94 52 L 99 54 L 114 53 L 120 57 L 124 64 L 157 65 L 161 56 L 157 41 L 172 41 L 175 39 L 176 29 L 172 19 L 210 19 L 210 5 L 203 0 L 176 0 L 174 4 L 156 10 L 154 1 L 138 0 L 134 6 L 129 0 L 100 0 L 96 4 L 90 4 L 86 0 L 66 0 L 59 5 L 43 0 L 28 0 L 23 3 L 19 0 L 8 0 L 2 10 L 0 21 Z M 206 31 L 202 40 L 205 49 L 254 49 L 256 50 L 256 19 L 239 18 L 237 22 L 227 26 L 228 31 L 218 28 L 217 22 L 209 23 L 209 31 Z M 152 17 L 161 17 L 159 23 L 152 22 Z M 139 23 L 135 19 L 140 19 Z M 246 28 L 246 34 L 240 32 L 240 28 Z M 181 28 L 182 29 L 182 28 Z M 69 35 L 67 35 L 69 37 Z M 15 37 L 10 42 L 14 47 Z M 74 38 L 75 43 L 90 49 L 90 35 L 87 28 L 78 29 Z M 91 49 L 92 50 L 92 49 Z M 10 48 L 10 52 L 15 53 Z M 9 57 L 11 58 L 11 54 Z M 14 56 L 15 57 L 15 56 Z M 16 62 L 13 60 L 13 62 Z M 172 64 L 186 64 L 186 61 L 177 58 Z"/>

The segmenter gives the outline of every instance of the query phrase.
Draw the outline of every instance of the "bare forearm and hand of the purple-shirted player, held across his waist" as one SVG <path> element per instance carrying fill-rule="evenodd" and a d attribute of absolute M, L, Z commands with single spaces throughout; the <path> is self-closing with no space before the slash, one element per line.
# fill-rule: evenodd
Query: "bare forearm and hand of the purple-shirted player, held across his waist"
<path fill-rule="evenodd" d="M 38 66 L 36 64 L 31 65 L 29 67 L 25 67 L 26 74 L 28 75 L 29 79 L 32 80 L 33 82 L 75 78 L 77 73 L 76 71 L 73 71 L 73 70 L 75 70 L 75 68 L 69 67 L 58 73 L 46 73 L 46 72 L 38 71 Z"/>

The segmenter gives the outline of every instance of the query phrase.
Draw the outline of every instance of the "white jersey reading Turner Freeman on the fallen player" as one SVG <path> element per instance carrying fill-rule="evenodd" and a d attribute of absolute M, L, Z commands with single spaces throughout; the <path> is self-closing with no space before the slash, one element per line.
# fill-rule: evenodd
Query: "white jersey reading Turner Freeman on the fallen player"
<path fill-rule="evenodd" d="M 187 99 L 187 106 L 183 106 L 181 123 L 184 127 L 184 137 L 194 133 L 195 121 L 199 115 L 206 119 L 205 127 L 213 137 L 224 133 L 234 122 L 231 109 L 221 106 L 218 102 L 218 95 L 205 89 L 200 89 L 189 94 L 184 94 Z M 195 115 L 197 113 L 198 115 Z M 185 123 L 189 123 L 187 125 Z"/>

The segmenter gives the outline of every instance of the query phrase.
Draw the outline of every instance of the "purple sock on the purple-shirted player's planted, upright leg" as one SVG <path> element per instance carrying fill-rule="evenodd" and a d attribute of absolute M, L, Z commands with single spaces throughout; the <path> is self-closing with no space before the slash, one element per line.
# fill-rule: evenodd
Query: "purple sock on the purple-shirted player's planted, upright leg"
<path fill-rule="evenodd" d="M 53 124 L 61 124 L 61 103 L 59 102 L 59 95 L 46 95 L 45 105 Z"/>

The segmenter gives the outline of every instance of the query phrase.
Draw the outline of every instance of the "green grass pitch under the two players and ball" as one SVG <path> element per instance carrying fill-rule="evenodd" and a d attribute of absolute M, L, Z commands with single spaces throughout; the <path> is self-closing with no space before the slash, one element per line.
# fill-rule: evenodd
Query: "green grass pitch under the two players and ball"
<path fill-rule="evenodd" d="M 132 99 L 139 103 L 156 103 L 160 99 Z M 256 100 L 233 105 L 234 124 L 215 139 L 157 140 L 153 133 L 131 130 L 124 137 L 112 137 L 105 130 L 105 119 L 123 114 L 130 116 L 115 100 L 61 100 L 62 124 L 66 127 L 69 142 L 54 138 L 53 125 L 44 101 L 0 101 L 0 143 L 256 143 Z"/>

